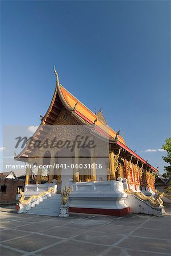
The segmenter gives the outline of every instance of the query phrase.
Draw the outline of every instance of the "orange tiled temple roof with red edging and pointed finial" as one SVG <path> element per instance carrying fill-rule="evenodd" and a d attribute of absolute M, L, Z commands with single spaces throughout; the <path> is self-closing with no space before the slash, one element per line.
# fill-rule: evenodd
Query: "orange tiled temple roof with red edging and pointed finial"
<path fill-rule="evenodd" d="M 42 139 L 43 137 L 45 138 L 45 135 L 47 135 L 47 130 L 45 130 L 44 127 L 55 124 L 55 121 L 61 112 L 61 108 L 64 106 L 67 110 L 69 110 L 69 112 L 72 112 L 72 116 L 76 118 L 80 124 L 91 126 L 92 129 L 102 137 L 109 138 L 110 143 L 115 143 L 119 147 L 122 147 L 123 152 L 131 154 L 135 159 L 140 160 L 141 163 L 145 163 L 145 165 L 148 168 L 151 168 L 153 171 L 158 171 L 156 168 L 152 167 L 151 164 L 147 163 L 147 161 L 128 148 L 124 139 L 120 137 L 120 135 L 114 130 L 112 130 L 111 127 L 106 125 L 98 114 L 96 115 L 95 113 L 91 112 L 91 110 L 82 104 L 81 101 L 68 92 L 68 90 L 66 90 L 60 84 L 59 76 L 57 75 L 55 68 L 54 71 L 57 77 L 55 92 L 47 113 L 45 113 L 44 117 L 41 118 L 40 126 L 33 135 L 35 141 L 37 139 Z M 31 151 L 28 149 L 27 145 L 19 155 L 15 156 L 15 160 L 23 161 L 24 159 L 30 157 L 30 155 Z"/>

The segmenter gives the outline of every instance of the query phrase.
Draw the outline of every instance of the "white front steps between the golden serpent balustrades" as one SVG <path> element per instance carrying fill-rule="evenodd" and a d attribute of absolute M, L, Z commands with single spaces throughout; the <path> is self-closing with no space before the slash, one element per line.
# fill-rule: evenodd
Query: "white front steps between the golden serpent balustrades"
<path fill-rule="evenodd" d="M 27 210 L 27 214 L 59 216 L 62 199 L 60 194 L 51 194 L 39 204 Z"/>

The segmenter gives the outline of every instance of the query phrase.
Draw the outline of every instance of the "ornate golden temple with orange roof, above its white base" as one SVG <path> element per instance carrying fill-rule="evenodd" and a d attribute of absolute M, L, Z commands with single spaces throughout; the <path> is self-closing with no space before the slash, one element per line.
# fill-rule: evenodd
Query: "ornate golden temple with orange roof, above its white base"
<path fill-rule="evenodd" d="M 49 184 L 56 184 L 56 193 L 60 194 L 62 188 L 73 185 L 74 195 L 74 189 L 81 193 L 88 188 L 96 193 L 107 191 L 107 184 L 115 190 L 115 184 L 123 181 L 128 191 L 155 195 L 158 170 L 127 146 L 120 131 L 107 125 L 102 109 L 93 113 L 69 93 L 60 84 L 55 68 L 54 71 L 56 88 L 47 113 L 41 116 L 41 123 L 26 147 L 15 156 L 15 160 L 28 163 L 25 196 L 31 196 L 33 191 L 38 195 L 41 191 L 31 186 L 48 188 Z M 83 146 L 85 140 L 87 147 Z M 79 204 L 84 208 L 79 200 L 72 204 L 72 193 L 70 200 L 73 211 L 77 211 L 74 208 L 78 209 Z"/>

